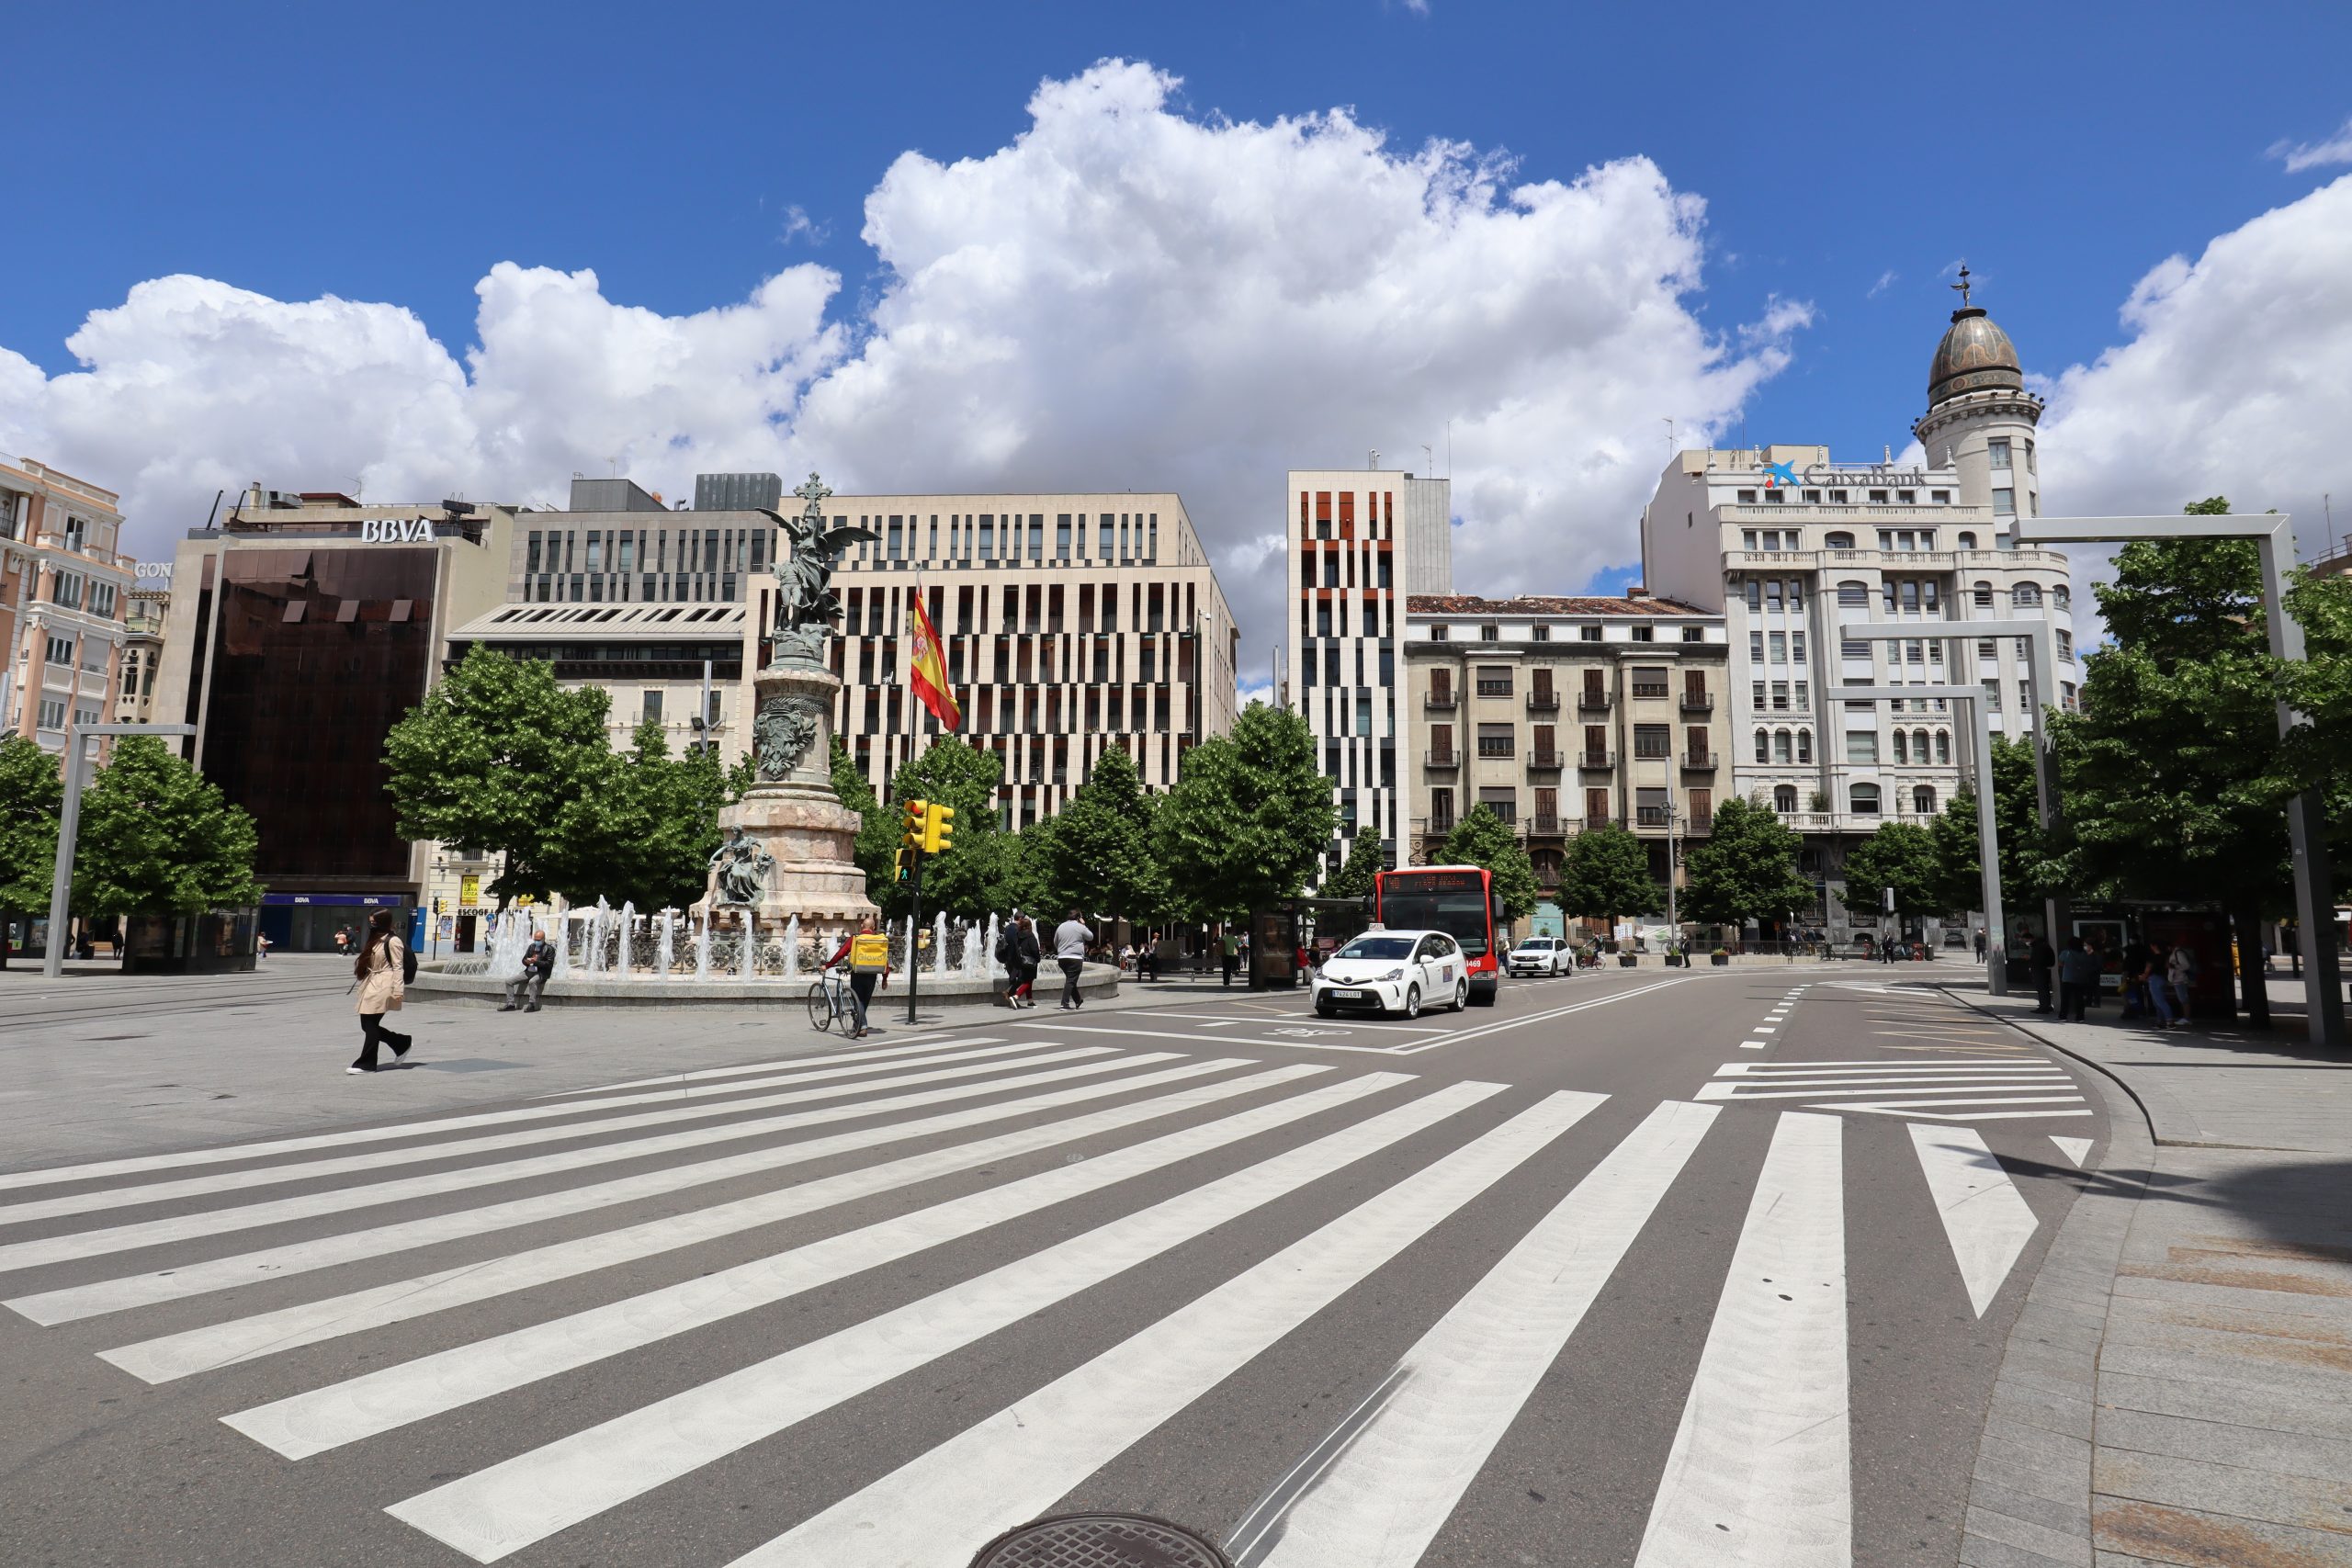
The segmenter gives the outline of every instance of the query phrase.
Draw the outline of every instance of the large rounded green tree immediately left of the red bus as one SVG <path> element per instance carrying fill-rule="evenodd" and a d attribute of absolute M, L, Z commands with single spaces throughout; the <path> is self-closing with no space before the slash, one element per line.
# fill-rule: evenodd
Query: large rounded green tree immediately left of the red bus
<path fill-rule="evenodd" d="M 1331 842 L 1331 780 L 1296 712 L 1251 703 L 1230 736 L 1202 741 L 1160 804 L 1171 896 L 1197 919 L 1232 919 L 1294 896 Z"/>

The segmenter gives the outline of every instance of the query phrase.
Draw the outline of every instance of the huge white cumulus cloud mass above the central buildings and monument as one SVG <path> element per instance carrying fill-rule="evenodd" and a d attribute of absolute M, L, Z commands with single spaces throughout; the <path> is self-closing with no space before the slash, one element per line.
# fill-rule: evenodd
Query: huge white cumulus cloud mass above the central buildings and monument
<path fill-rule="evenodd" d="M 1703 205 L 1649 160 L 1529 179 L 1345 110 L 1232 122 L 1174 89 L 1105 61 L 1040 85 L 985 158 L 898 158 L 866 202 L 882 284 L 849 313 L 809 263 L 694 315 L 499 263 L 452 353 L 397 303 L 160 277 L 68 339 L 78 369 L 0 348 L 0 442 L 122 489 L 148 552 L 247 480 L 560 501 L 619 461 L 670 496 L 731 468 L 1178 489 L 1256 644 L 1284 468 L 1378 447 L 1421 470 L 1451 421 L 1456 583 L 1573 590 L 1635 559 L 1661 418 L 1705 440 L 1811 320 L 1705 324 Z"/>

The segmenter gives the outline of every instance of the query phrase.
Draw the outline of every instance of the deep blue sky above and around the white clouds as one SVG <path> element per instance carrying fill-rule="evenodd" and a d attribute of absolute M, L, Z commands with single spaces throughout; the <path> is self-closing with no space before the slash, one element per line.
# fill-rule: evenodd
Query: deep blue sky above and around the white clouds
<path fill-rule="evenodd" d="M 821 263 L 842 280 L 826 317 L 863 331 L 891 282 L 863 205 L 891 162 L 985 158 L 1040 80 L 1122 56 L 1181 78 L 1167 108 L 1204 125 L 1350 108 L 1392 153 L 1461 141 L 1515 179 L 1651 160 L 1705 202 L 1682 292 L 1700 327 L 1736 346 L 1773 301 L 1811 306 L 1724 433 L 1875 456 L 1907 440 L 1957 259 L 2027 369 L 2058 374 L 2131 336 L 2117 313 L 2150 268 L 2352 162 L 2272 155 L 2352 115 L 2343 5 L 230 2 L 40 7 L 9 40 L 38 68 L 9 73 L 0 129 L 0 348 L 47 376 L 92 310 L 174 273 L 402 306 L 461 355 L 501 261 L 593 268 L 663 317 Z M 1623 552 L 1609 527 L 1599 555 Z"/>

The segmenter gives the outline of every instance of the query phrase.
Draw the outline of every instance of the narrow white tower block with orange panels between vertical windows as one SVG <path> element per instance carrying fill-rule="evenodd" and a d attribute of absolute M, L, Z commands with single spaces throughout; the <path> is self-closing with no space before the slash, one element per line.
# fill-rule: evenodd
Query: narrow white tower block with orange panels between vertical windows
<path fill-rule="evenodd" d="M 1454 592 L 1451 482 L 1385 468 L 1294 468 L 1284 477 L 1282 675 L 1277 701 L 1315 731 L 1338 827 L 1322 877 L 1359 832 L 1404 865 L 1397 710 L 1404 607 Z M 1317 884 L 1322 882 L 1317 877 Z"/>

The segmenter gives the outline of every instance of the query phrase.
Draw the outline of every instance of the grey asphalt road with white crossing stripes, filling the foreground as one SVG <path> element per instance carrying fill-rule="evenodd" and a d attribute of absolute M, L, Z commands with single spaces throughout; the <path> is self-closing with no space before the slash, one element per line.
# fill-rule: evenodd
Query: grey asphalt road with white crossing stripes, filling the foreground
<path fill-rule="evenodd" d="M 0 1561 L 962 1568 L 1103 1507 L 1943 1568 L 2105 1121 L 1919 978 L 1044 1004 L 7 1173 Z"/>

